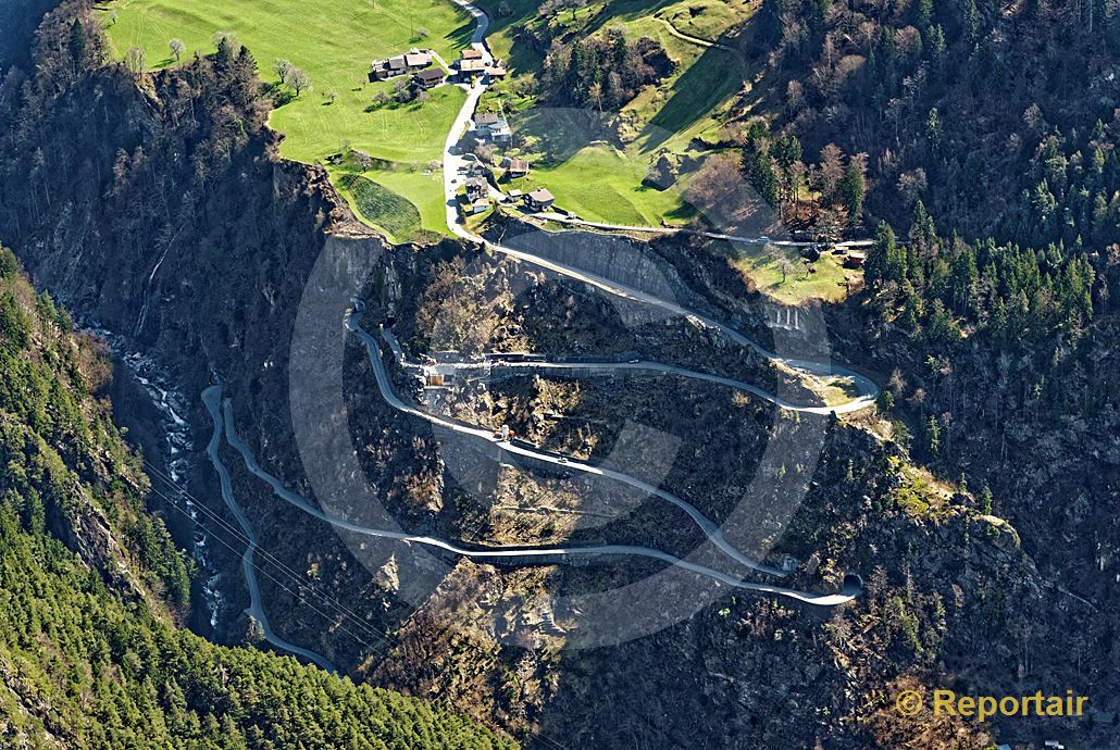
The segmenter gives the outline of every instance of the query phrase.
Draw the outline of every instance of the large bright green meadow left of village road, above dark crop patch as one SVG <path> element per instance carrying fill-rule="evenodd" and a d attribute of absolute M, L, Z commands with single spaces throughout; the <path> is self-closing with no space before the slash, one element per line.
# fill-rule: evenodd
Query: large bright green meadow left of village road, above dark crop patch
<path fill-rule="evenodd" d="M 447 0 L 118 0 L 101 8 L 106 22 L 115 13 L 109 34 L 118 55 L 140 47 L 155 67 L 174 64 L 171 38 L 186 43 L 186 56 L 205 55 L 215 31 L 232 31 L 264 81 L 277 82 L 277 58 L 306 69 L 314 91 L 276 110 L 270 122 L 284 133 L 280 152 L 289 159 L 321 161 L 348 141 L 380 159 L 427 163 L 439 159 L 463 103 L 461 91 L 445 86 L 424 104 L 366 111 L 391 85 L 367 83 L 373 59 L 412 46 L 448 58 L 469 43 L 473 21 Z M 424 39 L 416 34 L 421 27 Z"/>

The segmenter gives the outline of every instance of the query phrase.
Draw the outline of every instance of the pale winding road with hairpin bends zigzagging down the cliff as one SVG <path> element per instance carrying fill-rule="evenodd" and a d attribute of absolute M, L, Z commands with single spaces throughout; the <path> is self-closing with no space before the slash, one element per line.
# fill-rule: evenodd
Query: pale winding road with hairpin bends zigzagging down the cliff
<path fill-rule="evenodd" d="M 476 19 L 477 26 L 475 28 L 472 44 L 475 48 L 479 49 L 483 53 L 483 59 L 485 62 L 487 63 L 492 62 L 493 57 L 489 50 L 487 49 L 485 43 L 486 30 L 489 26 L 489 19 L 486 17 L 485 12 L 483 12 L 477 7 L 470 4 L 469 2 L 466 2 L 465 0 L 452 0 L 452 2 L 464 8 L 470 16 L 473 16 Z M 463 107 L 459 110 L 459 113 L 455 119 L 451 130 L 447 135 L 447 140 L 445 142 L 445 148 L 444 148 L 444 160 L 442 160 L 444 189 L 445 189 L 446 208 L 447 208 L 446 212 L 447 226 L 454 235 L 474 243 L 479 243 L 483 246 L 494 252 L 505 254 L 517 261 L 533 264 L 539 268 L 543 268 L 545 270 L 556 272 L 566 278 L 590 284 L 610 294 L 651 304 L 661 308 L 663 310 L 666 310 L 669 312 L 672 312 L 674 315 L 685 316 L 699 325 L 718 330 L 730 340 L 739 344 L 740 346 L 748 347 L 775 363 L 781 363 L 788 367 L 801 369 L 803 372 L 813 375 L 836 375 L 842 377 L 850 377 L 856 384 L 859 391 L 859 395 L 858 397 L 853 399 L 847 404 L 840 404 L 837 406 L 801 406 L 797 404 L 788 403 L 780 399 L 778 396 L 769 394 L 763 391 L 762 388 L 758 388 L 757 386 L 750 385 L 748 383 L 743 383 L 739 381 L 735 381 L 732 378 L 726 378 L 717 375 L 709 375 L 707 373 L 699 373 L 683 367 L 678 367 L 674 365 L 665 365 L 661 363 L 653 363 L 653 362 L 531 363 L 532 366 L 554 368 L 554 369 L 613 367 L 619 371 L 633 369 L 633 371 L 662 372 L 665 374 L 691 377 L 694 379 L 702 379 L 720 385 L 728 385 L 731 387 L 740 388 L 743 391 L 753 393 L 759 397 L 766 399 L 767 401 L 771 401 L 772 403 L 775 403 L 778 406 L 782 406 L 783 409 L 791 409 L 795 411 L 804 411 L 810 413 L 830 413 L 830 412 L 841 413 L 847 411 L 857 411 L 859 409 L 865 409 L 875 400 L 876 395 L 878 394 L 878 388 L 875 386 L 875 384 L 871 383 L 868 378 L 851 371 L 848 371 L 843 367 L 838 367 L 830 364 L 821 364 L 821 363 L 781 357 L 775 353 L 768 351 L 760 345 L 756 344 L 754 340 L 749 339 L 748 337 L 737 331 L 735 328 L 721 324 L 711 318 L 708 318 L 696 311 L 689 310 L 684 307 L 681 307 L 675 302 L 662 300 L 653 294 L 643 292 L 637 289 L 633 289 L 625 284 L 618 283 L 609 279 L 605 279 L 603 276 L 596 275 L 594 273 L 590 273 L 581 269 L 572 268 L 567 264 L 559 263 L 523 251 L 514 250 L 512 247 L 505 247 L 503 245 L 491 243 L 484 240 L 483 237 L 475 235 L 474 233 L 466 229 L 459 221 L 457 205 L 456 205 L 457 204 L 456 193 L 459 179 L 458 177 L 459 168 L 465 163 L 464 159 L 461 158 L 463 154 L 459 150 L 458 143 L 461 139 L 461 135 L 466 131 L 468 124 L 470 123 L 472 118 L 474 116 L 475 110 L 478 106 L 478 101 L 485 93 L 486 87 L 488 85 L 488 81 L 484 76 L 482 79 L 475 83 L 459 84 L 459 85 L 467 92 L 467 99 L 464 102 Z M 609 225 L 604 225 L 603 228 L 620 228 L 620 227 L 610 227 Z M 626 227 L 626 228 L 635 229 L 635 227 Z M 647 227 L 646 229 L 650 228 Z M 732 238 L 732 237 L 722 237 L 715 234 L 708 236 L 712 236 L 716 238 Z M 355 309 L 361 310 L 361 304 L 356 303 Z M 713 545 L 716 545 L 720 551 L 722 551 L 725 554 L 727 554 L 730 559 L 735 560 L 739 564 L 750 570 L 769 575 L 783 576 L 786 574 L 781 570 L 777 570 L 773 566 L 765 565 L 756 560 L 753 560 L 747 555 L 745 555 L 744 553 L 741 553 L 740 551 L 738 551 L 734 545 L 727 542 L 720 528 L 711 519 L 704 516 L 698 508 L 692 506 L 690 503 L 676 497 L 675 495 L 672 495 L 671 493 L 661 489 L 660 487 L 642 481 L 635 477 L 631 477 L 629 475 L 615 471 L 613 469 L 607 469 L 604 467 L 598 467 L 581 461 L 569 460 L 566 457 L 544 453 L 536 450 L 532 450 L 531 448 L 526 448 L 521 444 L 511 443 L 507 441 L 501 441 L 496 439 L 493 435 L 493 433 L 488 430 L 482 430 L 475 426 L 460 424 L 451 420 L 436 416 L 433 414 L 429 414 L 420 410 L 416 405 L 405 403 L 396 395 L 396 393 L 392 388 L 392 383 L 389 378 L 389 374 L 385 371 L 384 363 L 382 362 L 381 358 L 381 347 L 377 344 L 377 340 L 372 335 L 370 335 L 365 329 L 363 329 L 361 325 L 358 325 L 355 317 L 351 313 L 347 313 L 345 325 L 348 330 L 358 336 L 365 344 L 370 362 L 373 367 L 375 378 L 377 381 L 377 386 L 381 392 L 381 396 L 393 409 L 402 413 L 407 413 L 417 416 L 419 419 L 422 419 L 431 424 L 436 424 L 441 428 L 448 429 L 458 434 L 473 437 L 475 439 L 486 441 L 492 444 L 497 444 L 502 450 L 513 454 L 523 456 L 525 458 L 530 458 L 532 460 L 544 463 L 556 465 L 558 467 L 562 467 L 568 470 L 580 471 L 587 475 L 605 477 L 614 481 L 618 481 L 620 484 L 634 487 L 635 489 L 648 493 L 650 495 L 659 497 L 683 510 L 692 519 L 692 522 L 696 523 L 697 526 L 704 533 L 707 538 L 712 542 Z M 389 340 L 390 344 L 392 345 L 393 341 L 391 337 L 389 338 Z M 393 350 L 394 355 L 396 355 L 399 359 L 403 359 L 403 355 L 400 353 L 399 347 L 393 347 Z M 514 366 L 529 366 L 529 365 L 530 363 L 525 363 L 524 365 L 519 364 Z M 249 519 L 245 517 L 244 513 L 236 504 L 236 499 L 232 490 L 230 472 L 226 469 L 226 467 L 222 463 L 221 458 L 218 457 L 217 453 L 218 444 L 223 433 L 227 444 L 241 454 L 246 469 L 255 477 L 265 481 L 271 487 L 273 494 L 277 497 L 299 508 L 304 513 L 307 513 L 308 515 L 311 515 L 327 524 L 330 524 L 332 526 L 355 534 L 361 534 L 377 538 L 394 540 L 403 544 L 418 544 L 422 546 L 442 550 L 445 552 L 450 552 L 452 554 L 460 555 L 464 557 L 473 560 L 484 560 L 484 561 L 524 560 L 526 563 L 532 563 L 535 561 L 563 563 L 580 556 L 601 557 L 601 556 L 622 555 L 622 556 L 648 557 L 648 559 L 660 560 L 662 562 L 669 563 L 682 570 L 687 570 L 700 575 L 708 576 L 712 580 L 719 581 L 729 587 L 734 587 L 737 589 L 745 589 L 749 591 L 757 591 L 759 593 L 768 593 L 773 596 L 785 597 L 788 599 L 820 607 L 836 607 L 838 604 L 849 602 L 853 600 L 856 597 L 858 597 L 862 591 L 862 583 L 856 575 L 846 576 L 842 590 L 838 593 L 831 593 L 831 594 L 816 594 L 816 593 L 796 591 L 784 587 L 753 583 L 740 580 L 722 571 L 710 569 L 704 565 L 693 563 L 691 561 L 682 560 L 661 550 L 655 550 L 652 547 L 643 547 L 637 545 L 603 544 L 603 545 L 586 545 L 586 546 L 466 547 L 440 537 L 408 534 L 399 529 L 374 528 L 368 526 L 362 526 L 360 524 L 349 522 L 345 518 L 339 518 L 337 516 L 324 512 L 323 509 L 310 503 L 307 498 L 288 489 L 278 477 L 264 470 L 258 462 L 255 456 L 253 456 L 249 446 L 244 443 L 244 441 L 242 441 L 241 438 L 237 435 L 233 421 L 233 409 L 228 401 L 226 401 L 223 404 L 222 415 L 220 416 L 218 403 L 221 401 L 221 390 L 217 388 L 217 386 L 208 388 L 204 393 L 203 397 L 206 404 L 206 409 L 209 412 L 212 419 L 214 420 L 214 433 L 211 438 L 209 444 L 207 446 L 207 453 L 211 458 L 212 463 L 214 465 L 215 470 L 218 474 L 222 484 L 223 498 L 225 499 L 234 517 L 237 519 L 239 525 L 241 525 L 242 531 L 245 533 L 245 536 L 250 540 L 250 545 L 246 549 L 243 557 L 243 569 L 245 571 L 245 580 L 246 584 L 249 585 L 250 596 L 252 599 L 251 611 L 253 616 L 264 627 L 265 636 L 269 638 L 271 643 L 286 650 L 300 654 L 301 656 L 305 656 L 309 660 L 320 664 L 320 666 L 324 666 L 325 668 L 328 669 L 333 667 L 328 663 L 326 663 L 326 660 L 323 659 L 321 656 L 314 654 L 312 651 L 309 651 L 307 649 L 301 649 L 297 646 L 293 646 L 292 644 L 288 644 L 287 641 L 283 641 L 274 632 L 271 631 L 271 628 L 268 625 L 268 618 L 265 617 L 263 609 L 260 604 L 260 590 L 259 587 L 256 585 L 255 576 L 252 570 L 253 569 L 252 554 L 256 546 L 256 537 L 252 529 L 252 525 L 249 523 Z"/>

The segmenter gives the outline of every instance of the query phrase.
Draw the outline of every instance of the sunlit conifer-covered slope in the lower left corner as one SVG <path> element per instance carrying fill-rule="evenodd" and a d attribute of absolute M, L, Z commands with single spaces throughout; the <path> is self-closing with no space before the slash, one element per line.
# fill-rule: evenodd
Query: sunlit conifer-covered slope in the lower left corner
<path fill-rule="evenodd" d="M 181 598 L 187 566 L 94 396 L 108 375 L 96 343 L 3 249 L 0 372 L 0 747 L 514 747 L 419 701 L 176 629 L 162 597 Z"/>

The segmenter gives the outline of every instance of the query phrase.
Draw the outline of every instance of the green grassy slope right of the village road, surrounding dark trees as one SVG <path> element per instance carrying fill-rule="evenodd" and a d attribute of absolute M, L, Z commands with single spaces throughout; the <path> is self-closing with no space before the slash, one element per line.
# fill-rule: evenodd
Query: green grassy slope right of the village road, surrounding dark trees
<path fill-rule="evenodd" d="M 516 41 L 516 32 L 544 22 L 538 15 L 540 3 L 479 3 L 491 12 L 488 38 L 495 54 L 511 60 L 514 77 L 534 74 L 541 60 L 532 49 L 522 49 L 528 45 Z M 498 13 L 503 6 L 512 10 L 510 16 Z M 556 125 L 549 124 L 554 119 L 548 114 L 536 116 L 532 109 L 526 111 L 517 119 L 517 126 L 526 139 L 524 151 L 534 171 L 523 180 L 524 185 L 513 187 L 548 187 L 561 207 L 590 221 L 653 226 L 687 221 L 678 188 L 659 191 L 643 186 L 642 180 L 661 149 L 691 156 L 703 152 L 696 149 L 693 139 L 719 130 L 718 115 L 734 101 L 748 71 L 745 58 L 737 53 L 682 39 L 672 29 L 703 39 L 724 38 L 730 44 L 725 37 L 729 32 L 734 36 L 752 12 L 747 0 L 600 0 L 553 17 L 553 36 L 556 27 L 587 36 L 622 26 L 632 38 L 652 37 L 678 67 L 672 76 L 657 86 L 645 87 L 623 109 L 617 128 L 625 144 L 620 150 L 601 143 L 569 143 L 558 150 L 570 153 L 550 153 L 547 141 L 554 138 L 540 137 L 554 135 Z M 511 81 L 491 91 L 485 106 L 496 110 L 496 100 L 502 100 L 506 111 L 519 109 L 522 100 L 507 93 L 512 85 Z"/>

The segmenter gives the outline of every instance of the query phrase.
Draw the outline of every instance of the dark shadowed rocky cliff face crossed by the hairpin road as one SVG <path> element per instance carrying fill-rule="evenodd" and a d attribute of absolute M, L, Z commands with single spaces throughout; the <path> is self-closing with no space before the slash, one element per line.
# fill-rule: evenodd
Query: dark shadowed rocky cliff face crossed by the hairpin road
<path fill-rule="evenodd" d="M 56 19 L 59 29 L 68 29 L 65 18 Z M 65 37 L 55 31 L 58 43 L 47 46 L 65 56 Z M 53 38 L 49 30 L 45 38 Z M 83 320 L 127 335 L 159 358 L 184 393 L 200 393 L 220 379 L 241 437 L 260 463 L 289 488 L 320 504 L 336 501 L 314 497 L 289 395 L 295 355 L 314 359 L 298 346 L 293 351 L 301 304 L 337 281 L 335 271 L 345 278 L 353 270 L 328 268 L 319 275 L 320 259 L 336 253 L 363 270 L 364 285 L 347 289 L 334 300 L 337 307 L 325 308 L 324 325 L 333 326 L 330 316 L 337 316 L 339 338 L 340 313 L 354 296 L 364 301 L 367 324 L 394 315 L 403 330 L 414 334 L 410 338 L 428 343 L 431 330 L 424 324 L 432 316 L 424 301 L 440 282 L 439 260 L 477 259 L 451 243 L 422 253 L 388 246 L 352 222 L 321 170 L 277 160 L 276 135 L 264 128 L 267 107 L 249 59 L 220 55 L 139 82 L 110 68 L 77 75 L 72 65 L 52 59 L 54 65 L 44 60 L 25 94 L 15 97 L 9 88 L 8 99 L 0 100 L 7 122 L 18 125 L 0 135 L 0 238 L 16 246 L 39 283 Z M 578 250 L 559 246 L 557 252 Z M 603 270 L 617 272 L 623 253 L 637 253 L 646 259 L 641 266 L 646 270 L 628 281 L 660 279 L 668 292 L 688 294 L 701 309 L 722 312 L 735 303 L 736 290 L 719 280 L 711 282 L 712 299 L 697 299 L 688 289 L 708 288 L 710 280 L 697 274 L 711 272 L 674 270 L 680 257 L 674 261 L 664 249 L 661 255 L 644 255 L 646 250 L 613 251 L 603 259 Z M 493 270 L 482 264 L 483 271 Z M 447 275 L 455 281 L 458 274 Z M 620 313 L 598 316 L 606 306 L 577 299 L 592 297 L 586 289 L 540 283 L 526 298 L 538 307 L 524 309 L 510 303 L 507 290 L 480 289 L 469 298 L 477 307 L 455 320 L 484 329 L 485 340 L 545 341 L 557 350 L 607 344 L 616 353 L 662 345 L 672 353 L 669 339 L 681 339 L 685 343 L 675 350 L 690 358 L 702 348 L 678 336 L 680 328 L 666 334 L 668 325 L 642 324 L 634 335 Z M 431 309 L 438 318 L 439 306 Z M 757 311 L 740 315 L 759 317 Z M 507 317 L 517 325 L 502 322 Z M 757 363 L 735 364 L 757 374 Z M 505 467 L 497 479 L 456 475 L 448 468 L 455 457 L 441 452 L 439 435 L 418 429 L 377 396 L 367 362 L 353 348 L 344 376 L 346 411 L 321 419 L 340 421 L 347 437 L 355 435 L 354 452 L 376 497 L 410 531 L 438 531 L 478 544 L 493 541 L 495 531 L 508 535 L 502 541 L 525 532 L 571 541 L 579 524 L 550 528 L 547 515 L 525 521 L 524 514 L 511 514 L 522 513 L 526 499 L 541 506 L 530 510 L 610 509 L 609 504 L 584 506 L 575 482 L 562 475 L 538 480 Z M 404 385 L 398 383 L 399 390 Z M 682 397 L 674 387 L 659 381 L 645 384 L 643 393 L 650 403 L 682 414 L 690 410 L 690 420 L 715 419 L 696 394 Z M 592 456 L 617 439 L 614 428 L 627 410 L 642 405 L 623 399 L 610 403 L 606 391 L 594 386 L 553 393 L 514 384 L 468 395 L 457 407 L 476 410 L 479 422 L 523 419 L 542 441 Z M 542 403 L 547 409 L 538 407 Z M 756 446 L 776 419 L 762 405 L 728 397 L 727 412 L 734 410 L 755 419 L 737 428 L 743 433 L 727 434 L 741 447 Z M 534 421 L 538 411 L 586 426 L 544 424 Z M 200 404 L 189 418 L 198 431 L 195 444 L 205 444 Z M 367 543 L 339 536 L 273 498 L 236 457 L 227 456 L 226 463 L 241 504 L 259 525 L 261 547 L 289 570 L 306 573 L 316 591 L 344 601 L 377 635 L 349 632 L 344 617 L 324 619 L 309 604 L 312 598 L 302 596 L 306 591 L 262 581 L 274 628 L 356 676 L 449 703 L 531 741 L 538 738 L 539 747 L 697 747 L 698 738 L 713 748 L 827 742 L 855 750 L 900 747 L 915 738 L 922 738 L 922 747 L 981 743 L 984 732 L 976 726 L 952 723 L 930 738 L 921 719 L 887 721 L 879 713 L 889 700 L 885 696 L 902 684 L 900 675 L 939 686 L 946 665 L 969 658 L 979 666 L 961 679 L 978 690 L 1011 690 L 1014 671 L 1021 666 L 1018 646 L 1042 650 L 1047 628 L 1063 627 L 1062 618 L 1028 627 L 1039 597 L 1038 574 L 1009 527 L 980 518 L 964 496 L 958 501 L 942 497 L 906 468 L 903 454 L 865 430 L 829 421 L 822 434 L 818 470 L 811 485 L 804 478 L 810 486 L 805 501 L 778 527 L 785 532 L 778 551 L 809 561 L 790 580 L 799 588 L 838 588 L 844 572 L 860 571 L 868 585 L 856 606 L 814 612 L 718 591 L 715 606 L 652 635 L 580 650 L 564 650 L 580 612 L 559 606 L 558 594 L 613 591 L 655 571 L 635 563 L 526 570 L 455 559 L 420 563 L 407 545 L 363 546 Z M 648 448 L 633 442 L 634 450 Z M 736 476 L 745 467 L 718 463 L 700 429 L 690 430 L 682 450 L 671 480 L 722 519 L 746 484 Z M 774 478 L 803 470 L 791 451 L 784 466 L 775 466 Z M 725 479 L 736 491 L 719 494 Z M 501 491 L 487 505 L 467 485 L 485 489 L 488 480 Z M 200 472 L 192 489 L 216 498 L 214 484 Z M 648 504 L 635 507 L 633 517 L 615 519 L 605 531 L 595 527 L 585 538 L 615 534 L 619 541 L 670 540 L 689 549 L 685 523 Z M 760 514 L 759 527 L 767 521 Z M 236 561 L 236 555 L 225 561 L 233 603 L 218 625 L 228 638 L 244 629 Z M 407 590 L 423 564 L 436 585 Z M 1015 612 L 1001 606 L 1012 597 L 1019 602 Z M 1076 610 L 1063 617 L 1073 619 Z"/>

